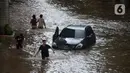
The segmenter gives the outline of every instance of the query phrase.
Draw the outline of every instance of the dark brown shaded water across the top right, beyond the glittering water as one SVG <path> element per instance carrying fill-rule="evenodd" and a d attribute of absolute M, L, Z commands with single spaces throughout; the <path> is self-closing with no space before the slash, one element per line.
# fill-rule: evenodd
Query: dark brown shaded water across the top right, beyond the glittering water
<path fill-rule="evenodd" d="M 67 7 L 68 10 L 86 15 L 85 18 L 97 16 L 109 20 L 129 20 L 130 9 L 126 9 L 124 16 L 117 16 L 114 13 L 115 0 L 47 0 L 50 4 L 56 4 L 59 8 Z M 66 8 L 65 8 L 66 9 Z M 64 8 L 61 10 L 64 10 Z"/>

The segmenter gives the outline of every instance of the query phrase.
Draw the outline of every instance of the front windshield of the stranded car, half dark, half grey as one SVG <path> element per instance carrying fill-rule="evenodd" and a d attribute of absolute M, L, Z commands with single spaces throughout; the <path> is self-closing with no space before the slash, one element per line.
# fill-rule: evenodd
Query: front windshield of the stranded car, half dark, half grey
<path fill-rule="evenodd" d="M 60 36 L 63 38 L 84 38 L 85 34 L 84 30 L 64 28 L 61 31 Z"/>

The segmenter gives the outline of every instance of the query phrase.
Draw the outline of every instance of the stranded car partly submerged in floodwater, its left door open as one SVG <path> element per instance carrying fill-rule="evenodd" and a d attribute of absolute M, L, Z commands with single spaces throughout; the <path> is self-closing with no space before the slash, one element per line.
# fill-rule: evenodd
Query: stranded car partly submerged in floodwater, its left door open
<path fill-rule="evenodd" d="M 69 25 L 61 33 L 59 33 L 59 27 L 56 28 L 52 47 L 54 49 L 84 49 L 95 42 L 96 37 L 91 26 Z"/>

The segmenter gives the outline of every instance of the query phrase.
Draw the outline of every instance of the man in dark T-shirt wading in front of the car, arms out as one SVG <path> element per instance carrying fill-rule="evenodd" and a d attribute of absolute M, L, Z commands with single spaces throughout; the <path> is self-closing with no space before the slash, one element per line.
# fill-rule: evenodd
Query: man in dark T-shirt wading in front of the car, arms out
<path fill-rule="evenodd" d="M 49 57 L 48 49 L 51 47 L 48 44 L 46 44 L 46 39 L 43 39 L 42 42 L 43 42 L 42 45 L 39 47 L 38 52 L 34 56 L 36 56 L 39 53 L 39 51 L 41 50 L 41 56 L 42 56 L 42 59 L 44 60 L 46 57 Z"/>

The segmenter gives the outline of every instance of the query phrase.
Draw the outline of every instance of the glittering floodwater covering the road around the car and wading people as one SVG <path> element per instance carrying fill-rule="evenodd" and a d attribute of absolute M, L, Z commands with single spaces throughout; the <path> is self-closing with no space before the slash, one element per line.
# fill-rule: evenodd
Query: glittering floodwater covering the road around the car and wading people
<path fill-rule="evenodd" d="M 114 16 L 111 9 L 106 6 L 107 13 L 104 8 L 101 8 L 102 6 L 100 7 L 102 1 L 92 3 L 89 5 L 89 9 L 86 8 L 87 6 L 82 6 L 87 1 L 73 1 L 15 0 L 12 2 L 10 5 L 10 22 L 13 29 L 26 35 L 23 51 L 27 52 L 28 55 L 20 55 L 18 58 L 22 59 L 20 64 L 17 59 L 13 59 L 17 62 L 10 62 L 11 66 L 19 64 L 23 67 L 22 69 L 20 67 L 11 68 L 10 65 L 6 65 L 4 67 L 5 70 L 8 68 L 6 72 L 17 73 L 15 70 L 18 70 L 19 73 L 23 73 L 23 71 L 25 71 L 24 73 L 129 73 L 130 26 L 127 22 L 129 20 L 120 21 L 119 16 Z M 108 5 L 111 4 L 114 3 L 110 2 Z M 104 7 L 105 5 L 103 4 Z M 100 13 L 100 9 L 102 13 Z M 103 11 L 106 14 L 103 14 Z M 37 18 L 43 14 L 47 29 L 31 29 L 29 22 L 33 14 L 36 14 Z M 121 16 L 120 18 L 123 19 L 124 17 Z M 55 27 L 59 26 L 62 29 L 70 24 L 92 26 L 97 36 L 96 44 L 78 51 L 55 50 L 53 53 L 50 50 L 48 61 L 41 61 L 40 53 L 35 59 L 32 58 L 42 42 L 43 35 L 48 37 L 47 43 L 51 45 Z M 0 71 L 5 73 L 5 71 Z"/>

